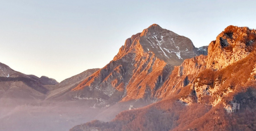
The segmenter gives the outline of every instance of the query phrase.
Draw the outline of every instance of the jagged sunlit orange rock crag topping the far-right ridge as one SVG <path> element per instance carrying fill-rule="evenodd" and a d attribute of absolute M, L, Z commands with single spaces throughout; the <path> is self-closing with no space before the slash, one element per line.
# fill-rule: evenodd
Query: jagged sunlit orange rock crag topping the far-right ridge
<path fill-rule="evenodd" d="M 209 44 L 207 68 L 222 69 L 245 58 L 254 48 L 256 31 L 228 26 Z"/>

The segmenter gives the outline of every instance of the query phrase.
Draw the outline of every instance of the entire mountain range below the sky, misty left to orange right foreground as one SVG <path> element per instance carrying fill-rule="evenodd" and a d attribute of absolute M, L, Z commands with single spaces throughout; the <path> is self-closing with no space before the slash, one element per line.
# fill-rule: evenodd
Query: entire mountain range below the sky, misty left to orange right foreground
<path fill-rule="evenodd" d="M 256 130 L 255 41 L 230 25 L 196 48 L 153 24 L 105 67 L 60 83 L 0 63 L 0 131 Z"/>

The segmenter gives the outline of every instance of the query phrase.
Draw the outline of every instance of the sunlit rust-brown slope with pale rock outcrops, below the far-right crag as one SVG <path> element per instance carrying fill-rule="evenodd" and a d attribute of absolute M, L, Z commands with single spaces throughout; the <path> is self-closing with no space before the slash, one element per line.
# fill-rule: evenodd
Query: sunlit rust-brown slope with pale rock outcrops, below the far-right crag
<path fill-rule="evenodd" d="M 193 88 L 197 102 L 216 106 L 223 103 L 227 106 L 228 96 L 246 89 L 255 81 L 255 49 L 247 57 L 217 71 L 206 69 L 196 77 Z M 209 97 L 211 99 L 209 99 Z M 231 98 L 228 98 L 231 99 Z"/>

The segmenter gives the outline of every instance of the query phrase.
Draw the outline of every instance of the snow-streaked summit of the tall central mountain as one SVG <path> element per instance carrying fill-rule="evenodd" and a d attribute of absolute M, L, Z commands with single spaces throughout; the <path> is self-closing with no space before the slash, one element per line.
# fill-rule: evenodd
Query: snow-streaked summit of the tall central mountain
<path fill-rule="evenodd" d="M 180 65 L 184 59 L 199 55 L 192 41 L 157 24 L 150 25 L 142 33 L 132 35 L 122 46 L 114 61 L 128 53 L 143 54 L 152 52 L 156 57 L 173 66 Z"/>

